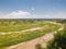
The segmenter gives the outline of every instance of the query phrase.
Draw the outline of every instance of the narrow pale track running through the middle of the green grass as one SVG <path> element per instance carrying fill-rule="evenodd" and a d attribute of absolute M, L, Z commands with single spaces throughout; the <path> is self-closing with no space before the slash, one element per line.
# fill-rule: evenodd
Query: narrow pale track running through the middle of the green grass
<path fill-rule="evenodd" d="M 52 23 L 52 24 L 57 24 L 57 23 L 54 23 L 54 22 L 50 22 L 50 21 L 46 21 L 47 23 Z M 61 24 L 58 24 L 58 25 L 61 25 Z M 23 32 L 29 32 L 29 30 L 37 30 L 37 29 L 41 29 L 41 28 L 43 28 L 43 26 L 42 27 L 35 27 L 35 28 L 29 28 L 29 29 L 24 29 L 24 30 L 20 30 L 20 32 L 8 32 L 8 33 L 0 33 L 0 35 L 9 35 L 9 34 L 12 34 L 12 33 L 23 33 Z"/>

